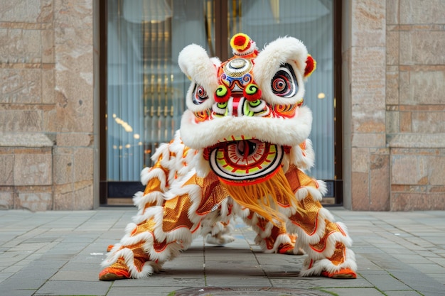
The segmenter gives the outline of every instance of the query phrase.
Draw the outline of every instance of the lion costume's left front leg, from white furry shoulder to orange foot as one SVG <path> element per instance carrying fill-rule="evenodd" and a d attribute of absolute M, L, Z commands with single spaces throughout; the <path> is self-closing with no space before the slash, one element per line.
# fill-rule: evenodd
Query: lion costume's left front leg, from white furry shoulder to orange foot
<path fill-rule="evenodd" d="M 157 150 L 153 168 L 142 171 L 146 190 L 134 197 L 138 213 L 102 263 L 100 280 L 145 278 L 156 272 L 190 246 L 200 221 L 227 196 L 214 175 L 203 179 L 193 170 L 181 174 L 193 157 L 185 151 L 176 138 Z"/>

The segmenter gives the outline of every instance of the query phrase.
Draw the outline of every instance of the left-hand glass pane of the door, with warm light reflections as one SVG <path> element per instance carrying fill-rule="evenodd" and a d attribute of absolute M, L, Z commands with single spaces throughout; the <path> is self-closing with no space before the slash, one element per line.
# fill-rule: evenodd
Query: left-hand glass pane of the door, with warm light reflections
<path fill-rule="evenodd" d="M 212 53 L 213 1 L 109 0 L 107 180 L 137 181 L 179 128 L 190 85 L 178 67 L 188 44 Z"/>

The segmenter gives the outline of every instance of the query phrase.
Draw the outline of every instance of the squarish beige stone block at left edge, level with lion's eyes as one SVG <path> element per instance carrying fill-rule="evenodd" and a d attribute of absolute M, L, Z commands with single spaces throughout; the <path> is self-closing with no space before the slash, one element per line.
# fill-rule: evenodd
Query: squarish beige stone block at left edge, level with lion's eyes
<path fill-rule="evenodd" d="M 41 75 L 40 69 L 0 68 L 0 103 L 41 103 Z"/>

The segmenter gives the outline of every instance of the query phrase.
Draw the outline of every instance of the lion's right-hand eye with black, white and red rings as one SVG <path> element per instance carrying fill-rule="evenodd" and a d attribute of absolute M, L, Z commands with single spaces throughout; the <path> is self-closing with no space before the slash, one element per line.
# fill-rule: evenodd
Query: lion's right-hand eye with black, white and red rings
<path fill-rule="evenodd" d="M 272 92 L 279 97 L 294 97 L 298 92 L 298 82 L 291 65 L 284 64 L 279 68 L 272 78 L 271 87 Z"/>

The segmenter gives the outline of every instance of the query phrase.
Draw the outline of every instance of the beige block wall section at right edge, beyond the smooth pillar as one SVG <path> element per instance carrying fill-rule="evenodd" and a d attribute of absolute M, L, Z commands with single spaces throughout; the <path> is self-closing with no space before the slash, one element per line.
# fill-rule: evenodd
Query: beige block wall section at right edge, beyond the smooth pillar
<path fill-rule="evenodd" d="M 391 209 L 445 209 L 445 1 L 387 1 Z"/>

